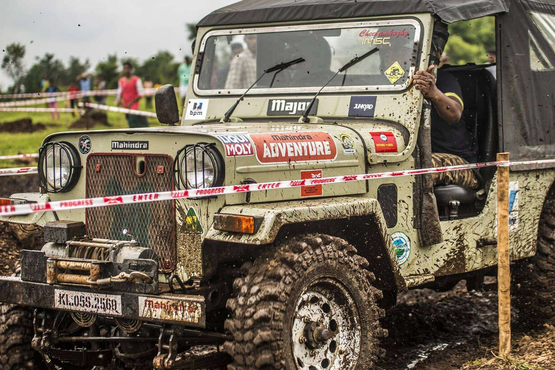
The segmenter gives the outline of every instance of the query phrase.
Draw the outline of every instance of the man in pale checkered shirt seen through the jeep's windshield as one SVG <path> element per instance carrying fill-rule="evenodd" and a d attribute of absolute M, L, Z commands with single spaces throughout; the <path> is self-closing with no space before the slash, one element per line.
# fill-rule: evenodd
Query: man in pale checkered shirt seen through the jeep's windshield
<path fill-rule="evenodd" d="M 247 48 L 231 60 L 226 89 L 248 89 L 256 81 L 256 35 L 246 34 L 245 43 Z"/>

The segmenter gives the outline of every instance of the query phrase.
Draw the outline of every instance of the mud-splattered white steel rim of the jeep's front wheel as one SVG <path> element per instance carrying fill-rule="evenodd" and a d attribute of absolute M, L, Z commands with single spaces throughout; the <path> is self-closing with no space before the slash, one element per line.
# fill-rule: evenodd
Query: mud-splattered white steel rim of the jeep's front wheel
<path fill-rule="evenodd" d="M 295 303 L 291 336 L 297 370 L 355 369 L 362 332 L 350 291 L 335 278 L 312 281 Z"/>

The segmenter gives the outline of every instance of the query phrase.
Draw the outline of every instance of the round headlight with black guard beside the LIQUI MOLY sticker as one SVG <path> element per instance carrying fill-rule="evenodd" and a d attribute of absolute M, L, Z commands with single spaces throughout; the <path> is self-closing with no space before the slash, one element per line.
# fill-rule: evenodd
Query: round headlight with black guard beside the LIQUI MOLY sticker
<path fill-rule="evenodd" d="M 188 144 L 174 159 L 175 187 L 179 190 L 220 186 L 224 183 L 224 160 L 215 144 Z"/>

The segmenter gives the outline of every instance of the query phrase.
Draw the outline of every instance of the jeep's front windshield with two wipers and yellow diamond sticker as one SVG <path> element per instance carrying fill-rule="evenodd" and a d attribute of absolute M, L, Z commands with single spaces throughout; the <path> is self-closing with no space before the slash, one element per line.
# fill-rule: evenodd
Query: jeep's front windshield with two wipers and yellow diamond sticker
<path fill-rule="evenodd" d="M 355 56 L 378 52 L 340 73 L 326 91 L 402 90 L 416 64 L 420 24 L 413 19 L 332 23 L 209 32 L 195 76 L 202 93 L 241 94 L 265 69 L 305 62 L 264 76 L 254 93 L 312 92 Z"/>

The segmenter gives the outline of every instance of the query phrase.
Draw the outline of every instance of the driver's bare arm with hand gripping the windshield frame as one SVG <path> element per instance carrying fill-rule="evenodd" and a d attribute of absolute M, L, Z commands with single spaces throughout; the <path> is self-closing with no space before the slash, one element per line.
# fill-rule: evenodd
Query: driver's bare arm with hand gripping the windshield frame
<path fill-rule="evenodd" d="M 420 90 L 424 97 L 430 99 L 433 107 L 436 109 L 437 114 L 447 123 L 455 124 L 461 120 L 462 110 L 464 108 L 461 93 L 446 92 L 443 93 L 440 88 L 436 86 L 436 79 L 430 73 L 435 65 L 430 65 L 427 71 L 418 70 L 413 77 L 413 85 L 415 89 Z M 450 77 L 451 75 L 448 74 Z M 460 90 L 457 80 L 453 77 L 453 81 L 448 81 L 447 84 L 453 84 L 452 89 Z M 455 86 L 456 85 L 456 86 Z"/>

